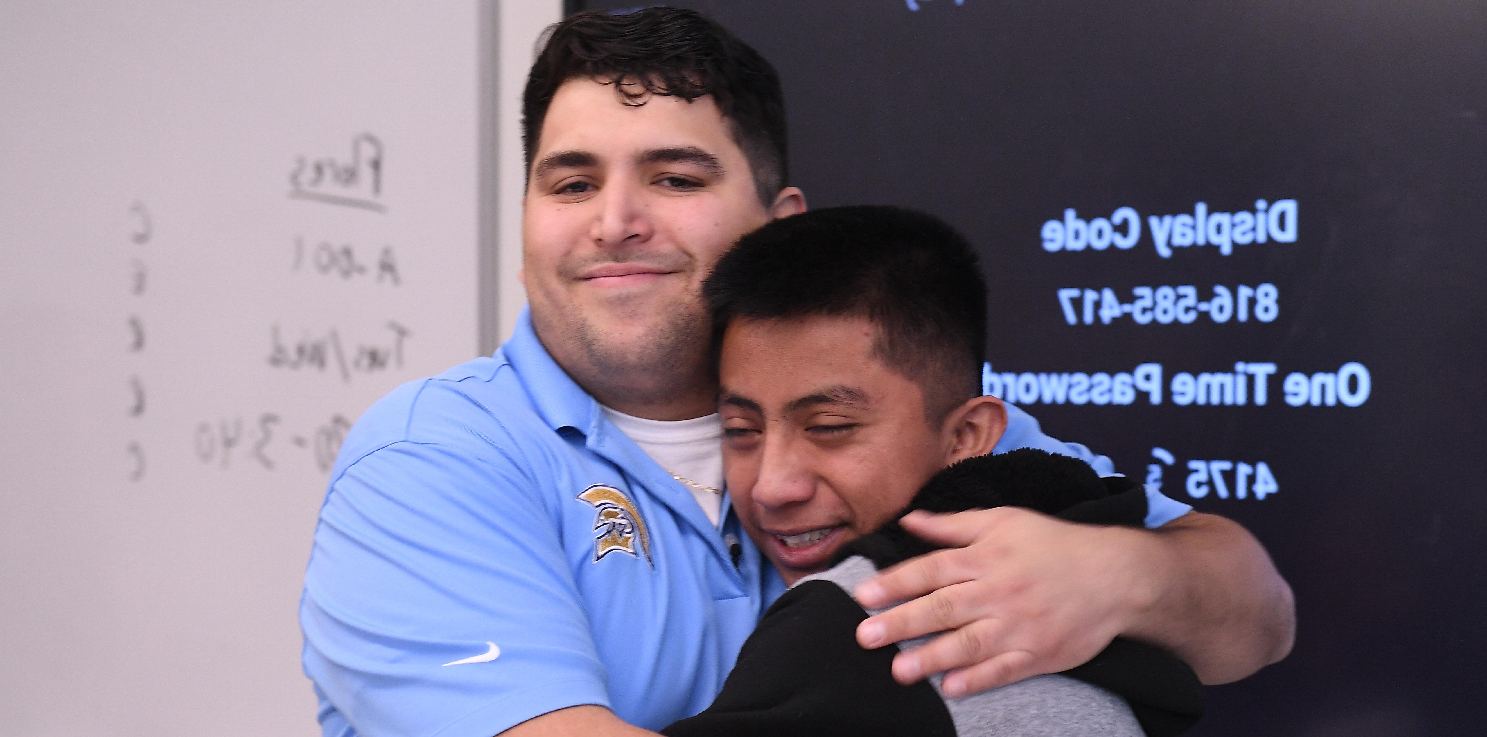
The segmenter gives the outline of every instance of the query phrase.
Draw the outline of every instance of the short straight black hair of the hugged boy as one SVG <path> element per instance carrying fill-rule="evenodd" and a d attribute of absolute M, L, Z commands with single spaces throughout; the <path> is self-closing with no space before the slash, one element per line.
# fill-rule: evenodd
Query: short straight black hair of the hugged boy
<path fill-rule="evenodd" d="M 943 220 L 897 207 L 840 207 L 744 236 L 702 287 L 717 343 L 733 319 L 865 316 L 876 355 L 915 380 L 938 422 L 981 394 L 986 279 Z"/>

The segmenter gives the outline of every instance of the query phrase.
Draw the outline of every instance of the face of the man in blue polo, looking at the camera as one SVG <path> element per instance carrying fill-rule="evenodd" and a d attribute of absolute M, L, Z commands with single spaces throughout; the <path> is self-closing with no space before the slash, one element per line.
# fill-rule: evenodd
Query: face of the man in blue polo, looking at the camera
<path fill-rule="evenodd" d="M 659 377 L 705 371 L 702 279 L 739 236 L 803 207 L 799 190 L 782 196 L 784 210 L 760 201 L 711 97 L 628 105 L 614 85 L 568 80 L 543 120 L 523 208 L 538 336 L 596 395 L 611 379 L 663 392 Z"/>

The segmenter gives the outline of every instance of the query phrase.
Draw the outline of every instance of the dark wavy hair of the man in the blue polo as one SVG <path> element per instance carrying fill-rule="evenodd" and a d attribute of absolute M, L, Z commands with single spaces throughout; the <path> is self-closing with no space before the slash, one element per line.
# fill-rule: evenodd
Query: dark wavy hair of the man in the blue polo
<path fill-rule="evenodd" d="M 769 207 L 785 187 L 790 168 L 779 74 L 752 46 L 712 19 L 680 7 L 622 15 L 587 10 L 552 25 L 546 37 L 522 95 L 528 174 L 553 95 L 564 82 L 586 77 L 614 83 L 616 95 L 628 105 L 644 105 L 651 95 L 688 103 L 711 95 L 748 158 L 760 201 Z"/>

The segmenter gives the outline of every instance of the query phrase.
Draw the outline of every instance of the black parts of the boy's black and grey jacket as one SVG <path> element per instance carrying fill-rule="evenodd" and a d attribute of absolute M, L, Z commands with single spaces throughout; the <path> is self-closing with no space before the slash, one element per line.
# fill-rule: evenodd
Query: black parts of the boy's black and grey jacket
<path fill-rule="evenodd" d="M 1135 481 L 1100 478 L 1081 461 L 1026 449 L 943 470 L 904 511 L 1004 505 L 1093 525 L 1141 526 L 1146 516 L 1145 490 Z M 895 520 L 848 544 L 836 563 L 862 556 L 882 569 L 931 550 Z M 903 686 L 892 679 L 897 645 L 874 651 L 857 645 L 857 626 L 864 618 L 867 612 L 831 581 L 793 587 L 744 643 L 712 706 L 662 733 L 956 734 L 956 724 L 965 722 L 952 719 L 938 688 L 926 681 Z M 1197 676 L 1152 645 L 1115 639 L 1093 660 L 1062 675 L 1124 698 L 1148 736 L 1179 734 L 1203 713 Z"/>

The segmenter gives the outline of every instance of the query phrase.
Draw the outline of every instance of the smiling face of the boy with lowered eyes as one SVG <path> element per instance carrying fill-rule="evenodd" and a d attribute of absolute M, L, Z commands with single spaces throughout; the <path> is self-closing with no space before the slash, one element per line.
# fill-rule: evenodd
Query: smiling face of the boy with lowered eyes
<path fill-rule="evenodd" d="M 735 319 L 724 334 L 729 493 L 788 584 L 894 519 L 952 453 L 919 385 L 874 355 L 876 337 L 855 316 Z"/>

